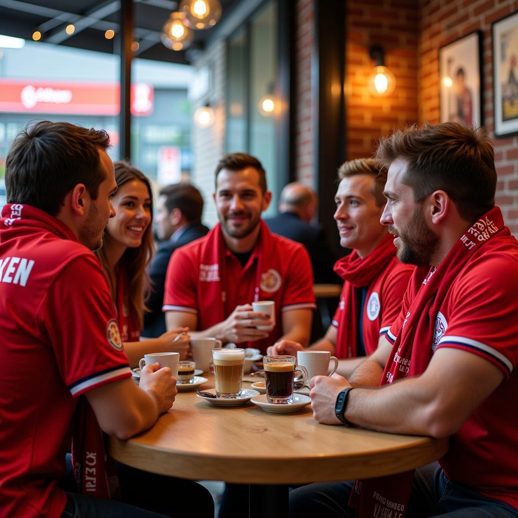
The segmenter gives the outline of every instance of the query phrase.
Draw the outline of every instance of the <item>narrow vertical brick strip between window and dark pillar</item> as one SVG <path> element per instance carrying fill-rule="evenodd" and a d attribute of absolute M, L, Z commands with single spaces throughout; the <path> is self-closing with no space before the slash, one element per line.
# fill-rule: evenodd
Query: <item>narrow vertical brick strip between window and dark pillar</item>
<path fill-rule="evenodd" d="M 313 0 L 296 3 L 296 128 L 295 174 L 297 180 L 313 184 L 313 129 L 311 104 L 311 53 L 314 40 Z"/>

